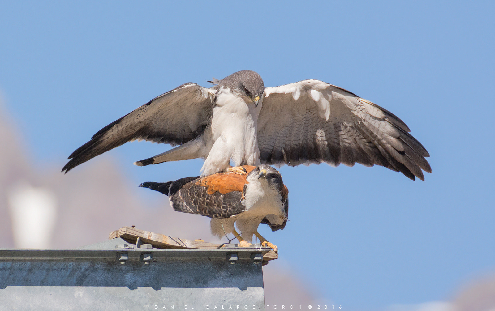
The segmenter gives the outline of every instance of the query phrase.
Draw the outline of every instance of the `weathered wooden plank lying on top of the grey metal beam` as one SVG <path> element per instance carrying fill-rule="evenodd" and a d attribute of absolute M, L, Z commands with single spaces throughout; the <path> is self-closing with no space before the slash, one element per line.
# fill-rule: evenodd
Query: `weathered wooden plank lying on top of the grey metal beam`
<path fill-rule="evenodd" d="M 155 248 L 162 249 L 217 249 L 221 244 L 204 242 L 203 240 L 188 240 L 170 237 L 160 233 L 154 233 L 138 229 L 136 227 L 122 227 L 110 232 L 108 239 L 121 237 L 129 243 L 136 244 L 138 238 L 145 244 L 151 244 Z M 269 251 L 263 256 L 264 261 L 277 259 L 277 253 L 274 250 Z"/>

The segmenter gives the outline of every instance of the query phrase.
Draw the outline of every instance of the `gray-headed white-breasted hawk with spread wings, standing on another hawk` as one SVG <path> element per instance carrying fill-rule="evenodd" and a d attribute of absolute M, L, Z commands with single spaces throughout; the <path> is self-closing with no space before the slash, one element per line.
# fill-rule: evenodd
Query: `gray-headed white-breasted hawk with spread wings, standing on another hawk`
<path fill-rule="evenodd" d="M 253 71 L 187 83 L 112 122 L 75 150 L 62 169 L 135 139 L 179 145 L 135 164 L 204 158 L 202 175 L 236 166 L 375 164 L 411 179 L 431 173 L 429 154 L 394 114 L 319 80 L 265 88 Z M 240 173 L 240 170 L 234 171 Z"/>

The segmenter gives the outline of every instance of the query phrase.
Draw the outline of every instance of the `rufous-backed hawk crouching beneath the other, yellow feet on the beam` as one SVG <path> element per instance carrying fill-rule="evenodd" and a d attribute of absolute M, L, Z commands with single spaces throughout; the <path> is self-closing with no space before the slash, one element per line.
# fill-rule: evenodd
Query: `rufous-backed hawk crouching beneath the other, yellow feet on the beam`
<path fill-rule="evenodd" d="M 211 232 L 218 237 L 233 233 L 241 246 L 249 246 L 255 235 L 263 245 L 276 250 L 257 229 L 260 223 L 268 224 L 272 231 L 285 227 L 289 190 L 280 172 L 269 165 L 245 165 L 242 169 L 245 175 L 223 172 L 168 182 L 148 181 L 140 186 L 169 196 L 170 205 L 178 212 L 210 217 Z"/>

